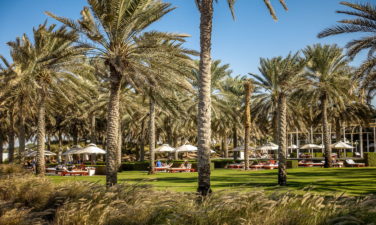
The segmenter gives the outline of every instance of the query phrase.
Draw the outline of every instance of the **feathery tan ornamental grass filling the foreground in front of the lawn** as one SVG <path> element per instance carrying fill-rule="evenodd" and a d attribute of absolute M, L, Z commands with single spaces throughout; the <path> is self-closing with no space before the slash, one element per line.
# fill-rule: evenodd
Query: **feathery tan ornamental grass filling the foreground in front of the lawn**
<path fill-rule="evenodd" d="M 0 201 L 4 203 L 0 208 L 0 222 L 39 221 L 63 225 L 376 222 L 373 195 L 311 194 L 310 187 L 297 193 L 285 188 L 264 192 L 254 187 L 248 191 L 213 192 L 201 199 L 196 193 L 156 190 L 149 181 L 125 182 L 106 189 L 104 185 L 87 181 L 52 183 L 49 178 L 31 174 L 1 176 L 0 182 L 5 188 L 0 190 Z"/>

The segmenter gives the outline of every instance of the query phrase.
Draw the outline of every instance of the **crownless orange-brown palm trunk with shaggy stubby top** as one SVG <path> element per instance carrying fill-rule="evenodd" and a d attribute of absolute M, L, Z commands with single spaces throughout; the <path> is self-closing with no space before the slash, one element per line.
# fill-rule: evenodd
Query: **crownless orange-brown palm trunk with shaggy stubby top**
<path fill-rule="evenodd" d="M 249 135 L 251 130 L 251 115 L 249 111 L 249 102 L 251 100 L 251 95 L 253 91 L 253 86 L 250 81 L 244 81 L 244 92 L 245 92 L 245 107 L 243 115 L 243 123 L 246 128 L 244 137 L 244 169 L 249 170 Z"/>

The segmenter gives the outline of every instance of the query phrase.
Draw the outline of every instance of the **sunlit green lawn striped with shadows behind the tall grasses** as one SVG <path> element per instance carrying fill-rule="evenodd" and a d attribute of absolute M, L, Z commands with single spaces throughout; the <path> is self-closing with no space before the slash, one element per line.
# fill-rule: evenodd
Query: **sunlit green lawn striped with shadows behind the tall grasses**
<path fill-rule="evenodd" d="M 277 169 L 258 171 L 237 171 L 228 169 L 215 169 L 211 173 L 211 187 L 213 190 L 228 187 L 241 188 L 259 185 L 265 190 L 270 190 L 277 184 Z M 314 185 L 312 192 L 340 192 L 346 191 L 347 195 L 363 193 L 376 194 L 376 167 L 365 168 L 298 168 L 287 170 L 288 188 L 300 190 L 307 185 Z M 71 179 L 73 176 L 49 176 L 54 182 Z M 118 174 L 118 182 L 130 182 L 143 179 L 156 178 L 153 184 L 159 189 L 172 189 L 177 192 L 195 191 L 197 188 L 197 173 L 166 173 L 158 172 L 156 175 L 147 175 L 147 172 L 127 171 Z M 105 183 L 106 176 L 77 176 L 78 180 L 98 181 Z M 265 187 L 265 188 L 264 188 Z"/>

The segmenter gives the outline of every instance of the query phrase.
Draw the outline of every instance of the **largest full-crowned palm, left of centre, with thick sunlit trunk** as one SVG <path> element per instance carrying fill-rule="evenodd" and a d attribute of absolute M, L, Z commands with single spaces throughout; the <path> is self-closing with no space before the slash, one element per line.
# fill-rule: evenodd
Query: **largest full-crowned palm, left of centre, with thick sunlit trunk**
<path fill-rule="evenodd" d="M 46 14 L 81 36 L 76 38 L 65 35 L 64 38 L 94 49 L 97 57 L 103 58 L 109 66 L 110 77 L 103 77 L 111 82 L 107 118 L 106 183 L 114 185 L 117 183 L 115 161 L 119 140 L 121 81 L 125 79 L 136 91 L 144 91 L 139 89 L 144 84 L 143 81 L 154 81 L 155 73 L 150 72 L 150 67 L 171 71 L 177 65 L 192 65 L 189 57 L 175 54 L 171 47 L 161 43 L 161 40 L 184 41 L 189 35 L 156 30 L 144 32 L 150 24 L 174 9 L 170 3 L 159 0 L 91 0 L 88 4 L 89 7 L 83 8 L 82 17 L 77 21 L 51 12 Z"/>

